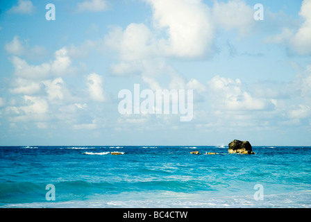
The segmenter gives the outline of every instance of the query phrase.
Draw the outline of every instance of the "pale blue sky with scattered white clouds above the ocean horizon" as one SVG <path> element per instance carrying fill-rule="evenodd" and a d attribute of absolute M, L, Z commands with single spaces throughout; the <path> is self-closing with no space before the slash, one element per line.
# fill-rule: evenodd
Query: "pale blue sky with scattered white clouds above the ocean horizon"
<path fill-rule="evenodd" d="M 311 146 L 310 11 L 311 0 L 1 1 L 0 146 Z M 120 113 L 135 84 L 192 89 L 193 118 Z"/>

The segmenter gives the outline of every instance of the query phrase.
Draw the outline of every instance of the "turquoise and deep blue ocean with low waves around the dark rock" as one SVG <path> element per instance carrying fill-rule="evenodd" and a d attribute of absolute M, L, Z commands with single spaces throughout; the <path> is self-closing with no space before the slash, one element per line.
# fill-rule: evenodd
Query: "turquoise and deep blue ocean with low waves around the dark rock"
<path fill-rule="evenodd" d="M 0 207 L 311 207 L 311 147 L 253 146 L 253 151 L 1 146 Z"/>

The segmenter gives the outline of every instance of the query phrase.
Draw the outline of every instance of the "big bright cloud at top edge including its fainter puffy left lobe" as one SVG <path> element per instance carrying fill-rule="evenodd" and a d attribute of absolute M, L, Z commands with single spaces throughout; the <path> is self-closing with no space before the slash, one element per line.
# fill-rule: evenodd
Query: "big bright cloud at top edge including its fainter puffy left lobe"
<path fill-rule="evenodd" d="M 105 37 L 121 60 L 210 56 L 215 38 L 210 8 L 201 1 L 146 0 L 153 8 L 153 30 L 145 24 L 114 28 Z M 165 33 L 160 35 L 160 33 Z"/>

